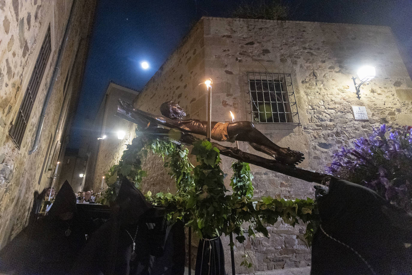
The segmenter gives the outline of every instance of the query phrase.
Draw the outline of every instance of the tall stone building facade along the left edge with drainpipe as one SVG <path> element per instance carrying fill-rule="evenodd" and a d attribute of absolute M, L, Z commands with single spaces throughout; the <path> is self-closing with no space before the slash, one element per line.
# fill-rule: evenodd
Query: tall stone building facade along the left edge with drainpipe
<path fill-rule="evenodd" d="M 0 1 L 0 249 L 26 226 L 35 192 L 51 183 L 77 106 L 95 5 L 94 0 Z M 37 150 L 29 154 L 53 84 Z"/>

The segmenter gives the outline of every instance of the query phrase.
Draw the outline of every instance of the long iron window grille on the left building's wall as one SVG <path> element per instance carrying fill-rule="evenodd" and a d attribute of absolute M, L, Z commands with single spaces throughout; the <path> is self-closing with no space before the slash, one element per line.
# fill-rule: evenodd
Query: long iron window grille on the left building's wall
<path fill-rule="evenodd" d="M 9 134 L 16 143 L 16 146 L 20 148 L 21 141 L 23 141 L 24 133 L 28 120 L 30 118 L 31 110 L 37 97 L 37 92 L 40 88 L 40 83 L 46 70 L 47 61 L 49 60 L 50 53 L 52 52 L 52 40 L 50 37 L 50 26 L 47 28 L 46 36 L 44 37 L 40 53 L 37 56 L 37 60 L 31 74 L 26 92 L 24 93 L 23 100 L 17 113 L 16 120 L 9 131 Z"/>

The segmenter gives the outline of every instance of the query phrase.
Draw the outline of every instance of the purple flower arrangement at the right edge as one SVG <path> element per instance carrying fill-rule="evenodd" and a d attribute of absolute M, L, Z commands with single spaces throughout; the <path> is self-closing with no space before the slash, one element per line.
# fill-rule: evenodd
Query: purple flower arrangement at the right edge
<path fill-rule="evenodd" d="M 326 172 L 368 187 L 412 213 L 412 127 L 373 128 L 353 148 L 335 153 Z"/>

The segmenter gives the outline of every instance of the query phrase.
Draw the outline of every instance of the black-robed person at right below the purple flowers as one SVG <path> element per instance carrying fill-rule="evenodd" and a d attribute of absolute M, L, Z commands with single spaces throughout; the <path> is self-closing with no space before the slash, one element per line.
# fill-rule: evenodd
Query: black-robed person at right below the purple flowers
<path fill-rule="evenodd" d="M 412 274 L 412 218 L 374 191 L 333 179 L 318 199 L 311 274 Z"/>

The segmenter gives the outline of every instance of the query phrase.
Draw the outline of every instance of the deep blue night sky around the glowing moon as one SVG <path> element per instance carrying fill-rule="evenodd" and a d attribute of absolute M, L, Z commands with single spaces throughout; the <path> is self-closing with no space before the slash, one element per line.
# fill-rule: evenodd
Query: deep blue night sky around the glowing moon
<path fill-rule="evenodd" d="M 108 82 L 142 89 L 201 16 L 229 17 L 244 0 L 98 0 L 89 56 L 70 133 L 78 148 Z M 248 0 L 247 2 L 254 2 Z M 291 20 L 390 26 L 412 75 L 411 0 L 283 0 Z M 405 59 L 406 57 L 406 59 Z M 147 61 L 150 67 L 141 68 Z"/>

